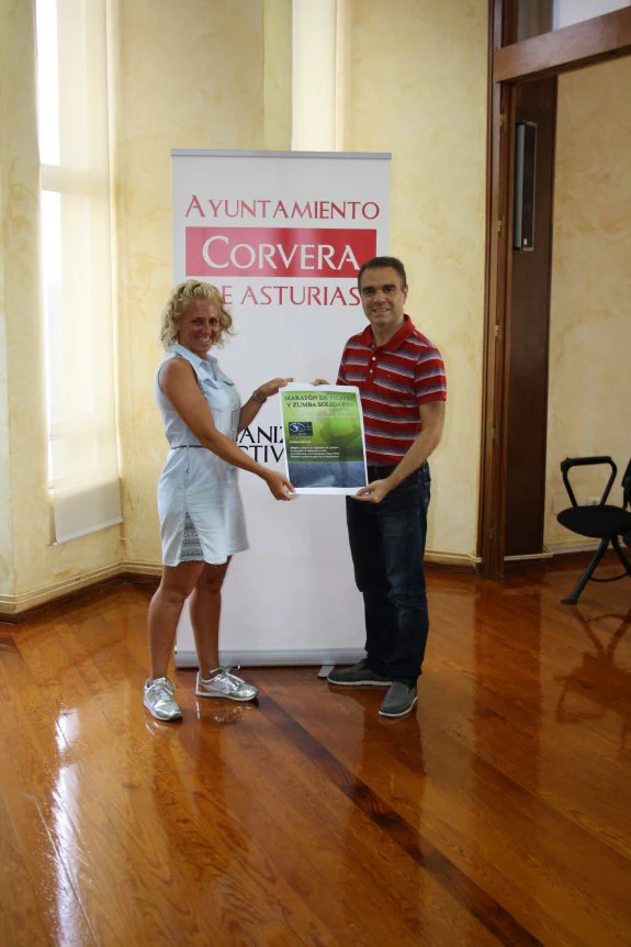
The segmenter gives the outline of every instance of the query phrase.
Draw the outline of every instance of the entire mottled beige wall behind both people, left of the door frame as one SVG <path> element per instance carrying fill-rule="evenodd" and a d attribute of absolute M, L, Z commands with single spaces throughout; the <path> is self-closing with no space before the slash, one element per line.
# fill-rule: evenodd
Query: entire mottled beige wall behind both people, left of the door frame
<path fill-rule="evenodd" d="M 339 146 L 393 153 L 392 250 L 409 311 L 443 350 L 444 445 L 430 549 L 473 556 L 484 279 L 486 2 L 343 0 Z M 53 546 L 37 290 L 37 147 L 30 2 L 0 0 L 3 241 L 0 304 L 0 610 L 119 564 L 154 570 L 165 442 L 153 398 L 159 310 L 171 285 L 170 149 L 288 148 L 290 0 L 116 0 L 113 175 L 124 527 Z M 385 20 L 387 29 L 384 27 Z M 2 342 L 0 336 L 0 343 Z M 5 359 L 5 364 L 3 364 Z"/>

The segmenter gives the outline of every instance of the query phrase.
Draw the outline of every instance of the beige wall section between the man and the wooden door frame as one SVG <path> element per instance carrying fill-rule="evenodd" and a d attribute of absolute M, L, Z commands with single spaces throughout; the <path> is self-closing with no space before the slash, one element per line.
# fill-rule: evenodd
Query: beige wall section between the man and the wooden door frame
<path fill-rule="evenodd" d="M 349 151 L 392 152 L 391 247 L 407 310 L 441 349 L 449 401 L 432 460 L 428 547 L 474 556 L 486 168 L 486 0 L 350 0 Z"/>

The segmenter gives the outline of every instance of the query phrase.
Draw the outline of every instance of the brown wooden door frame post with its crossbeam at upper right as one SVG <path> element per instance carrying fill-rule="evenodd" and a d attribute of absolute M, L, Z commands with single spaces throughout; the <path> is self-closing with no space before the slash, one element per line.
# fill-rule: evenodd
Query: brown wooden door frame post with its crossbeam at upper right
<path fill-rule="evenodd" d="M 515 87 L 631 54 L 631 7 L 515 42 L 518 0 L 488 2 L 487 202 L 478 572 L 504 576 Z"/>

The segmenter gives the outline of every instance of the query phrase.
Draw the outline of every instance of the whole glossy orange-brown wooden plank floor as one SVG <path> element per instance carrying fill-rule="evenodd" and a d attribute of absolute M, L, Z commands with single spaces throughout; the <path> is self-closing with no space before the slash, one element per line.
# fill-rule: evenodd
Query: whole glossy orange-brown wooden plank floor
<path fill-rule="evenodd" d="M 142 706 L 147 592 L 0 626 L 0 945 L 631 945 L 631 581 L 430 572 L 414 717 Z"/>

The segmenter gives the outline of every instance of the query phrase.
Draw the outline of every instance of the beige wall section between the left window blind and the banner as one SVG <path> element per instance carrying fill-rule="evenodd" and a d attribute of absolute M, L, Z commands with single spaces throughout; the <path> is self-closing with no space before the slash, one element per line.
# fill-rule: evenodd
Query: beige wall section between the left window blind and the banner
<path fill-rule="evenodd" d="M 170 153 L 264 147 L 264 9 L 262 0 L 119 0 L 116 11 L 124 559 L 151 568 L 160 561 L 156 484 L 167 453 L 153 381 L 172 283 Z"/>

